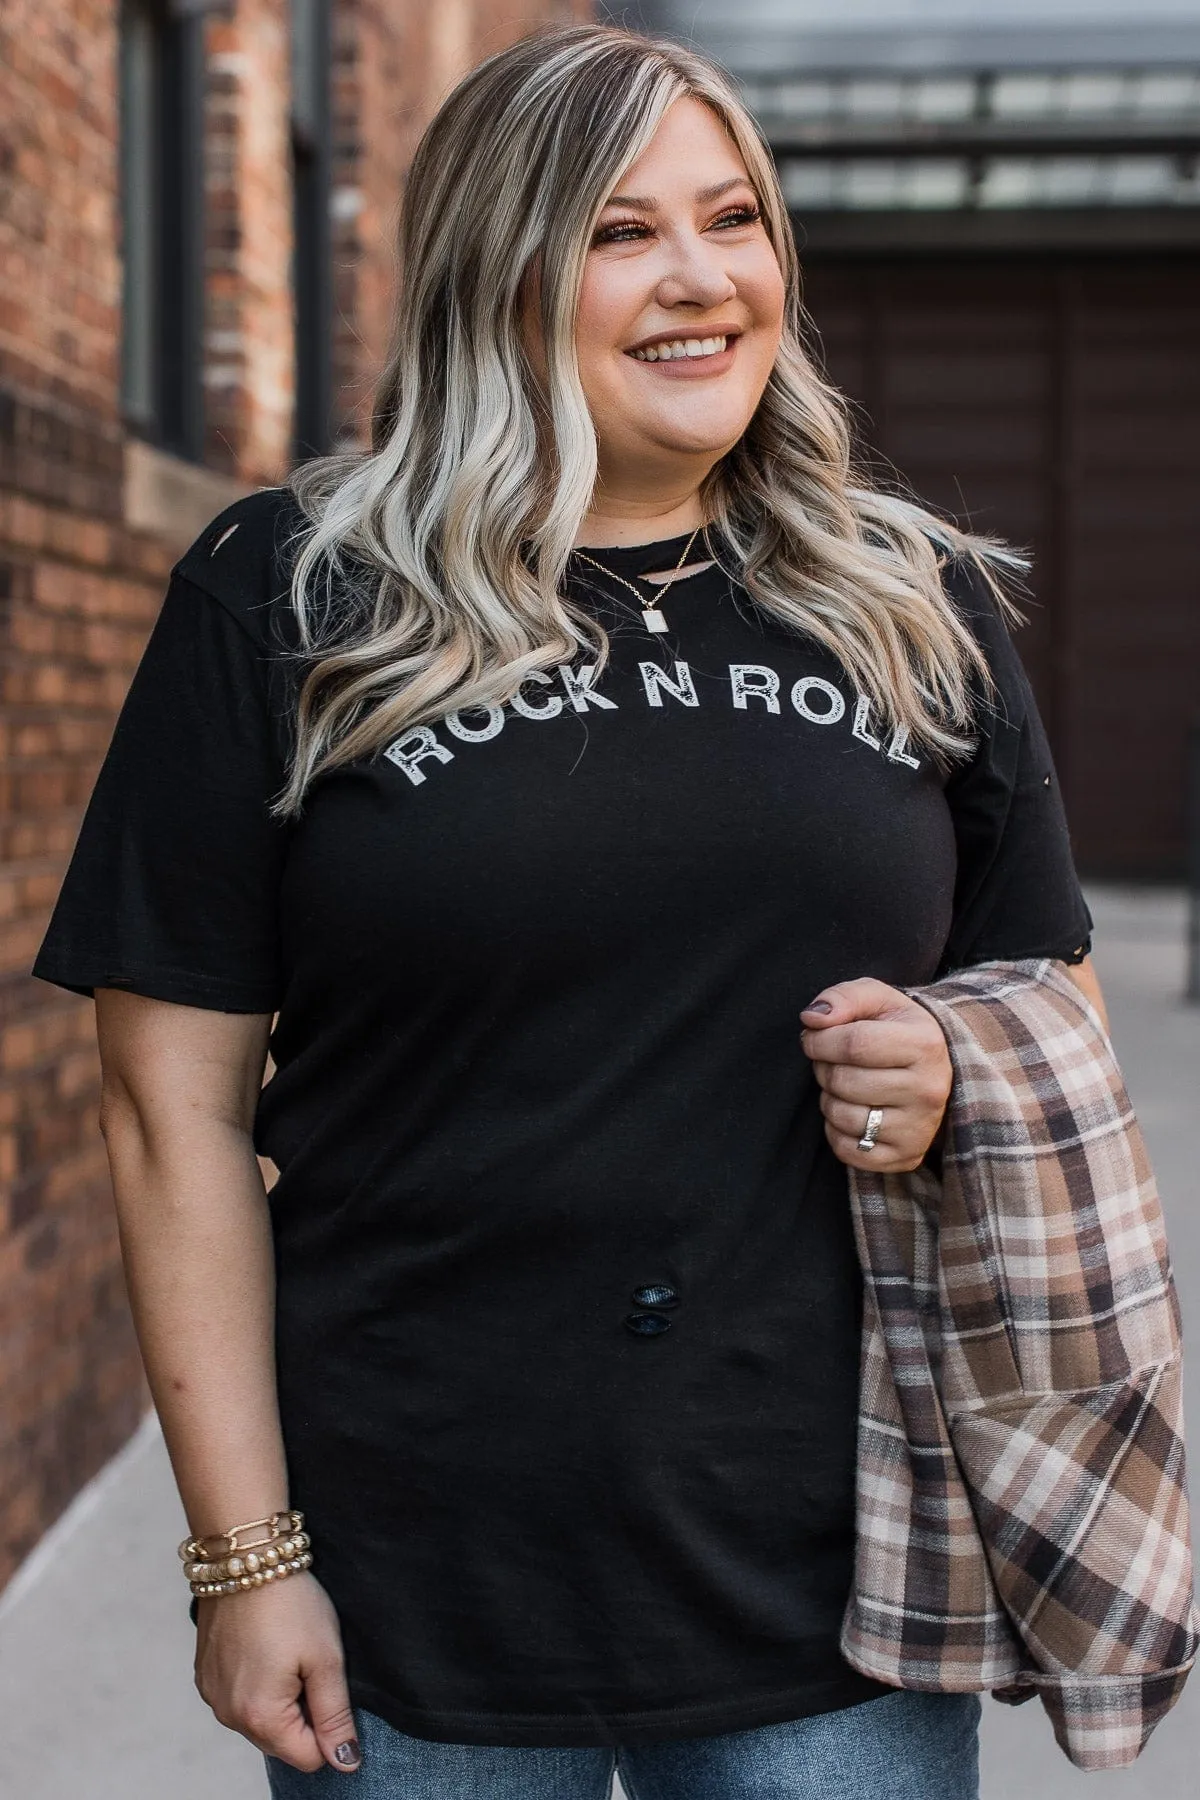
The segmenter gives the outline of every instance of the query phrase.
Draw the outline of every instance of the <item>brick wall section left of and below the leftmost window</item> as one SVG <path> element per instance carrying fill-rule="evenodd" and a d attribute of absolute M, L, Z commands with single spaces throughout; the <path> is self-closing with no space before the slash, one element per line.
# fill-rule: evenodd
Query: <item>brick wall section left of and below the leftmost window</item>
<path fill-rule="evenodd" d="M 0 1582 L 146 1397 L 92 1006 L 29 961 L 155 616 L 122 517 L 112 7 L 0 16 Z"/>

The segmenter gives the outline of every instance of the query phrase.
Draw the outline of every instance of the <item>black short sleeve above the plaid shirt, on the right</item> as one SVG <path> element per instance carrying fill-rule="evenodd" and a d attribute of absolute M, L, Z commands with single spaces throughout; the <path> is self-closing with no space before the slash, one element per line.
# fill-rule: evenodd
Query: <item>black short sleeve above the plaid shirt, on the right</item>
<path fill-rule="evenodd" d="M 1029 677 L 979 569 L 955 558 L 943 581 L 988 657 L 997 695 L 979 706 L 973 758 L 946 781 L 957 877 L 937 972 L 1031 956 L 1083 961 L 1092 914 Z"/>

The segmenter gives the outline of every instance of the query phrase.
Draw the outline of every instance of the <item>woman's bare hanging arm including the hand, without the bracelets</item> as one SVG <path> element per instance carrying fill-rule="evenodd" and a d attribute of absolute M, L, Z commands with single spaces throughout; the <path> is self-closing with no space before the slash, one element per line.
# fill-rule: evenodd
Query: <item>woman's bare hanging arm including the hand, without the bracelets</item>
<path fill-rule="evenodd" d="M 272 1015 L 95 988 L 95 1021 L 130 1305 L 189 1528 L 302 1507 L 288 1494 L 252 1136 Z M 311 1571 L 201 1600 L 196 1687 L 221 1724 L 295 1768 L 358 1762 L 336 1615 Z"/>

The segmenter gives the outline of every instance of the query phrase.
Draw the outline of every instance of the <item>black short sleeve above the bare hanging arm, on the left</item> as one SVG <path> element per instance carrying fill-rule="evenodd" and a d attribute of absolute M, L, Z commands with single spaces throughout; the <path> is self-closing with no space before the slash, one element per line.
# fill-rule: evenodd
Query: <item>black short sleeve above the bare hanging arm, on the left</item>
<path fill-rule="evenodd" d="M 268 650 L 171 576 L 32 965 L 94 994 L 277 1012 L 286 821 Z"/>

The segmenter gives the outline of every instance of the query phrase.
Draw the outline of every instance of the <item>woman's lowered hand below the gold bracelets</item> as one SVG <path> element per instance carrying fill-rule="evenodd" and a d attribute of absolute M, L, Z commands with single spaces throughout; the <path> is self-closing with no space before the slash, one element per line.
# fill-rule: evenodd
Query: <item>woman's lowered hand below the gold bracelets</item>
<path fill-rule="evenodd" d="M 295 1769 L 362 1760 L 338 1615 L 308 1570 L 200 1600 L 196 1687 L 221 1724 Z"/>

